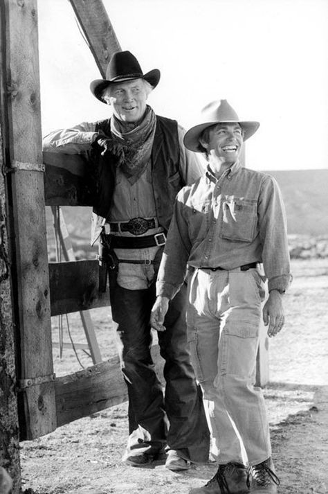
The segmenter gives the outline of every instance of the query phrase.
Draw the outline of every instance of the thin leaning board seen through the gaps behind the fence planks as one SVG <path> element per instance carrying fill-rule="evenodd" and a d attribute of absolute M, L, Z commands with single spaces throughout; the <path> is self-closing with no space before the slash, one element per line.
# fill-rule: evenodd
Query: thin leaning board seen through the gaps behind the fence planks
<path fill-rule="evenodd" d="M 62 252 L 64 255 L 65 261 L 75 261 L 75 255 L 74 255 L 74 249 L 73 249 L 73 243 L 71 241 L 71 238 L 69 236 L 69 231 L 67 230 L 66 223 L 64 220 L 64 215 L 62 212 L 62 209 L 59 208 L 58 211 L 59 218 L 57 218 L 59 224 L 55 224 L 54 221 L 54 228 L 57 231 L 57 234 L 60 238 L 60 245 L 62 247 Z M 56 208 L 53 207 L 53 218 L 57 217 L 56 214 Z M 92 320 L 91 320 L 91 315 L 89 313 L 89 310 L 80 310 L 80 317 L 82 321 L 82 326 L 84 329 L 84 333 L 86 336 L 86 341 L 88 342 L 90 353 L 91 353 L 91 358 L 93 364 L 97 364 L 98 362 L 102 361 L 101 358 L 101 353 L 100 349 L 98 346 L 97 338 L 95 337 L 95 330 L 93 328 Z"/>

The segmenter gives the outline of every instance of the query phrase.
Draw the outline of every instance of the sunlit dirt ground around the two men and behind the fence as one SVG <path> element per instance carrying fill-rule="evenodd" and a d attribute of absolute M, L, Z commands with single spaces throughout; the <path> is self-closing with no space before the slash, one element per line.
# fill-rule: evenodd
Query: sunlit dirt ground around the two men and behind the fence
<path fill-rule="evenodd" d="M 264 388 L 280 494 L 328 493 L 328 259 L 293 261 L 293 285 L 285 296 L 286 326 L 270 340 L 270 382 Z M 93 311 L 105 360 L 115 353 L 107 310 Z M 78 315 L 71 336 L 84 342 Z M 53 321 L 53 340 L 60 332 Z M 67 328 L 64 340 L 68 341 Z M 91 361 L 78 350 L 84 366 Z M 78 371 L 71 349 L 54 349 L 57 376 Z M 121 463 L 127 439 L 127 405 L 64 425 L 21 443 L 26 494 L 187 494 L 205 484 L 215 464 L 173 473 L 163 464 L 134 468 Z"/>

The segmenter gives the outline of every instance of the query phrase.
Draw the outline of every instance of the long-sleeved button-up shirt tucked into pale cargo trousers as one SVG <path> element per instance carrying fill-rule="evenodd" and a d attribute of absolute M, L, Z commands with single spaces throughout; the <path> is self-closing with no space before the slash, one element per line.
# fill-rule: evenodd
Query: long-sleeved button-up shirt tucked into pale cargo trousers
<path fill-rule="evenodd" d="M 263 263 L 269 291 L 288 288 L 289 248 L 280 188 L 270 175 L 239 162 L 219 179 L 208 168 L 176 197 L 157 294 L 174 297 L 186 264 L 232 270 L 253 262 Z"/>

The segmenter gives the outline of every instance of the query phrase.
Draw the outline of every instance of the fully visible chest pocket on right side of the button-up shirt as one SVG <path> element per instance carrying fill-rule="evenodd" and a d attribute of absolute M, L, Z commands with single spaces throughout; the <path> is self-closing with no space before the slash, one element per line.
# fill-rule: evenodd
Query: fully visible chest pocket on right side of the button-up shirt
<path fill-rule="evenodd" d="M 221 200 L 220 238 L 251 242 L 257 230 L 257 201 L 224 196 Z"/>

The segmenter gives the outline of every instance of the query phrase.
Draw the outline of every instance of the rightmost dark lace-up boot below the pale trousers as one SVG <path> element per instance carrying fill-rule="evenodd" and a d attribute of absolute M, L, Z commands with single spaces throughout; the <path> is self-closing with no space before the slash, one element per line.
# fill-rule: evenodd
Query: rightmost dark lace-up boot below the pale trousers
<path fill-rule="evenodd" d="M 277 494 L 279 484 L 271 458 L 250 467 L 250 493 Z"/>

